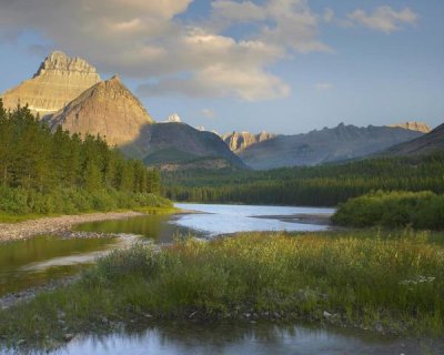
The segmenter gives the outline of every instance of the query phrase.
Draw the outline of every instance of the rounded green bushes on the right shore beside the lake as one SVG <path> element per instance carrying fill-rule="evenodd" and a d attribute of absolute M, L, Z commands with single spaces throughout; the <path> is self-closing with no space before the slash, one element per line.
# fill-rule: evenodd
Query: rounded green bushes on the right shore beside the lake
<path fill-rule="evenodd" d="M 444 229 L 444 195 L 430 191 L 377 191 L 340 204 L 333 222 L 349 226 L 382 225 Z"/>

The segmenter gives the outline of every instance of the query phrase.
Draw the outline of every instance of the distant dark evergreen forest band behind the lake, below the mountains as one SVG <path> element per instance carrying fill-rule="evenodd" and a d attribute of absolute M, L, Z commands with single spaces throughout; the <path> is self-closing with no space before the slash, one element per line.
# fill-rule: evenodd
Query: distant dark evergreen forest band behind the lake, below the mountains
<path fill-rule="evenodd" d="M 371 191 L 444 193 L 444 153 L 270 171 L 163 173 L 171 200 L 335 206 Z"/>

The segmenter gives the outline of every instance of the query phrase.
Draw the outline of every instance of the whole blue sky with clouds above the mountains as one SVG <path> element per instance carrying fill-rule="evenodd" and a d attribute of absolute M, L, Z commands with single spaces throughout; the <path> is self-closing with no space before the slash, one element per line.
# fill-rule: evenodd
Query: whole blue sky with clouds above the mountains
<path fill-rule="evenodd" d="M 0 0 L 0 92 L 53 50 L 219 133 L 444 122 L 443 0 Z"/>

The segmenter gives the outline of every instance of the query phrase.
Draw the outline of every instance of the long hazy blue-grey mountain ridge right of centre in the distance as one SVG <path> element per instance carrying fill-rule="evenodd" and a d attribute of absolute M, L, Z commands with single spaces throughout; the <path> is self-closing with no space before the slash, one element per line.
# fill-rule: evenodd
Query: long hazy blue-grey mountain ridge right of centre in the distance
<path fill-rule="evenodd" d="M 423 135 L 401 128 L 357 128 L 339 124 L 295 135 L 278 135 L 239 153 L 245 164 L 265 170 L 282 166 L 315 165 L 369 155 Z"/>

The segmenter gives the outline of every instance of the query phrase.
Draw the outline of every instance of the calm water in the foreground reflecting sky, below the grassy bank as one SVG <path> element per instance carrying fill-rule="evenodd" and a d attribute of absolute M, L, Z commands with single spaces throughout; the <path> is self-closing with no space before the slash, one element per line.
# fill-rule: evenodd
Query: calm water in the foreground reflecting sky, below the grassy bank
<path fill-rule="evenodd" d="M 157 323 L 107 336 L 84 336 L 53 354 L 65 355 L 400 355 L 443 354 L 425 341 L 374 337 L 356 331 L 272 323 Z"/>

